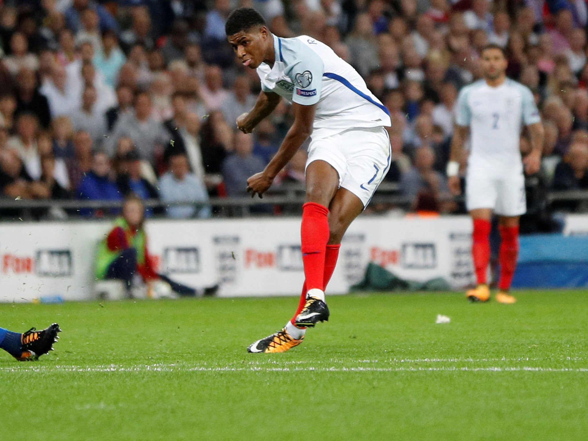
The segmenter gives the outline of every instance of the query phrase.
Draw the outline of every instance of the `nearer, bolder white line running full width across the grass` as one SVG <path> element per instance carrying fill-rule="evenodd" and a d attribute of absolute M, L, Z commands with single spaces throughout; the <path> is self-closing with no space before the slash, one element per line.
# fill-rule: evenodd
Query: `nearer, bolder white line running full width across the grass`
<path fill-rule="evenodd" d="M 415 367 L 397 366 L 386 368 L 339 368 L 335 366 L 316 368 L 306 366 L 303 368 L 271 368 L 260 366 L 233 367 L 233 366 L 177 366 L 177 365 L 136 365 L 125 366 L 22 366 L 2 367 L 0 372 L 588 372 L 588 368 L 543 368 L 540 366 L 440 366 L 440 367 Z"/>

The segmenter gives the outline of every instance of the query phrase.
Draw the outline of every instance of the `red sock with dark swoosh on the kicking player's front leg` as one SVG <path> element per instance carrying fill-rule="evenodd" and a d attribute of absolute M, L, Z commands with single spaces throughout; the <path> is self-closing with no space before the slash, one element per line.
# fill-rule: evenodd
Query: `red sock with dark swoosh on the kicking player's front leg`
<path fill-rule="evenodd" d="M 323 289 L 325 253 L 329 240 L 329 209 L 320 203 L 306 202 L 302 206 L 302 261 L 306 289 Z"/>

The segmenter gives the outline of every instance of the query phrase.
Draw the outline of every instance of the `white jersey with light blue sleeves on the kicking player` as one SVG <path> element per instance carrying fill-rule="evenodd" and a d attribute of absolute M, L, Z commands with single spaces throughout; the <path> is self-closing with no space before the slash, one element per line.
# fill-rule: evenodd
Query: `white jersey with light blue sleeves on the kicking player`
<path fill-rule="evenodd" d="M 313 139 L 353 127 L 391 125 L 386 107 L 329 46 L 308 35 L 274 35 L 273 46 L 273 67 L 262 63 L 257 68 L 262 90 L 278 93 L 290 102 L 316 104 Z"/>

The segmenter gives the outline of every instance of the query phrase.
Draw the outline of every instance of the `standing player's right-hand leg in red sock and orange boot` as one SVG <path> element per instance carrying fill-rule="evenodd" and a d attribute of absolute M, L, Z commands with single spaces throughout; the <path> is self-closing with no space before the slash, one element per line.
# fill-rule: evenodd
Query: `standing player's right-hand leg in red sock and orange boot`
<path fill-rule="evenodd" d="M 510 295 L 510 284 L 516 270 L 516 260 L 519 256 L 519 216 L 500 216 L 500 278 L 496 300 L 500 303 L 515 303 L 516 299 Z"/>

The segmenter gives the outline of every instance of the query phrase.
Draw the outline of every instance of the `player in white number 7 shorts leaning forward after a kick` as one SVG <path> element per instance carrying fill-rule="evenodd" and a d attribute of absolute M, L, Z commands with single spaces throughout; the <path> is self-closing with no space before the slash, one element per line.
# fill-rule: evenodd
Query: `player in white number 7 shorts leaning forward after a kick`
<path fill-rule="evenodd" d="M 251 176 L 259 197 L 310 137 L 301 244 L 305 283 L 286 326 L 249 346 L 249 352 L 284 352 L 299 345 L 306 328 L 329 318 L 325 288 L 335 269 L 343 234 L 368 205 L 388 169 L 392 152 L 385 127 L 390 115 L 355 69 L 307 35 L 272 35 L 255 9 L 233 11 L 225 25 L 243 65 L 257 69 L 262 92 L 237 127 L 250 133 L 276 108 L 292 102 L 294 122 L 268 166 Z"/>

